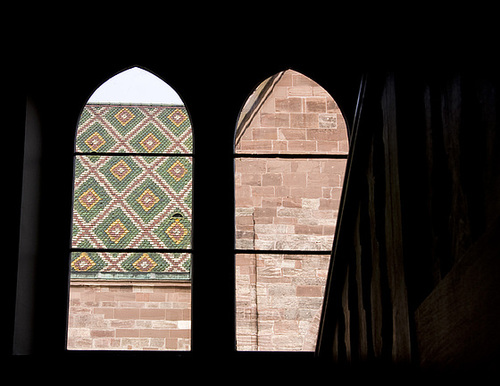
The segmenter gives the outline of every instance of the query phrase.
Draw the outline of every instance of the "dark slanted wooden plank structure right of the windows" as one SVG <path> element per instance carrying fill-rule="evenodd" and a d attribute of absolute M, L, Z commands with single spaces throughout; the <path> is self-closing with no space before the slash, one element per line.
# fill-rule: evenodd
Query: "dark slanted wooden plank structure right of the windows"
<path fill-rule="evenodd" d="M 497 95 L 488 71 L 367 78 L 320 355 L 495 363 Z"/>

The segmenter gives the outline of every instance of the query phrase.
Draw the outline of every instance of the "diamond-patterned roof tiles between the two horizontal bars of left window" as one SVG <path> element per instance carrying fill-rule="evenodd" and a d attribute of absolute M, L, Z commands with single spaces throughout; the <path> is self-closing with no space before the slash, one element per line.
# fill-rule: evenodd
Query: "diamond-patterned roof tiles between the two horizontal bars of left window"
<path fill-rule="evenodd" d="M 78 155 L 76 163 L 74 248 L 191 247 L 191 157 Z"/>

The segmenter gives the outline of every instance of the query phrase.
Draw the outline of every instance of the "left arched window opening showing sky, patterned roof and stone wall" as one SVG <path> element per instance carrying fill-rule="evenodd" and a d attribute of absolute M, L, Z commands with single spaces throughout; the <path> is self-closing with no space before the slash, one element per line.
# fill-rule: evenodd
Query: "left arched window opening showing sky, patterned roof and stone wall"
<path fill-rule="evenodd" d="M 189 350 L 193 134 L 134 67 L 84 106 L 75 145 L 67 348 Z"/>

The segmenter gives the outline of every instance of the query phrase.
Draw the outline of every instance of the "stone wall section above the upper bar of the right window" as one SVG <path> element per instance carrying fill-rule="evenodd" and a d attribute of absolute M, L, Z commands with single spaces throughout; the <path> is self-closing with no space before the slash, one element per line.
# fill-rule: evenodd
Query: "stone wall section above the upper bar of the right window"
<path fill-rule="evenodd" d="M 342 112 L 328 92 L 312 79 L 284 71 L 270 93 L 253 104 L 248 123 L 237 136 L 236 153 L 347 154 L 349 141 Z M 259 103 L 260 100 L 260 103 Z M 249 102 L 253 98 L 249 98 Z M 255 113 L 255 114 L 252 114 Z M 241 117 L 240 117 L 241 122 Z"/>

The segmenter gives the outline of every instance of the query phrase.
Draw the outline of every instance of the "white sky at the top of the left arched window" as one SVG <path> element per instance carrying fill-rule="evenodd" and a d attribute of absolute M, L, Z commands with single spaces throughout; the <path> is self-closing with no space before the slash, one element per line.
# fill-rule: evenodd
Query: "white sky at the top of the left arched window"
<path fill-rule="evenodd" d="M 87 103 L 184 105 L 172 87 L 138 67 L 120 72 L 104 82 Z"/>

